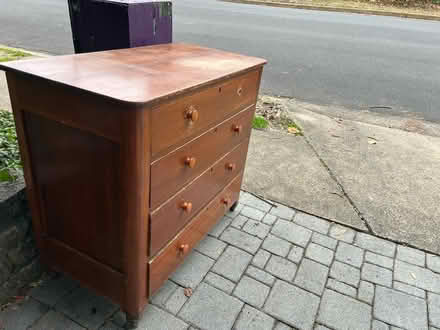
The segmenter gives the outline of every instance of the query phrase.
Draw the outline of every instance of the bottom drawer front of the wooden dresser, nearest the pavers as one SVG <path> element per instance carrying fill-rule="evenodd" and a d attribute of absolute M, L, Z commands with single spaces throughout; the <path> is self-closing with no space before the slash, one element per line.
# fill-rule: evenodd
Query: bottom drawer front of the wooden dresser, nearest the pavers
<path fill-rule="evenodd" d="M 205 236 L 229 207 L 238 200 L 243 173 L 240 173 L 191 223 L 148 264 L 148 296 L 151 297 L 179 266 L 185 256 Z M 224 201 L 228 200 L 228 205 Z"/>

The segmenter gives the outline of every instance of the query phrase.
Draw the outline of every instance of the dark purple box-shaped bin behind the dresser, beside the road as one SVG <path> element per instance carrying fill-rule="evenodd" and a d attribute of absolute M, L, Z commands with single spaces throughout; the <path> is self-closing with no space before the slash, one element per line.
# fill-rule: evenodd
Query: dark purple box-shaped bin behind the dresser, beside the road
<path fill-rule="evenodd" d="M 75 53 L 172 42 L 170 1 L 68 0 Z"/>

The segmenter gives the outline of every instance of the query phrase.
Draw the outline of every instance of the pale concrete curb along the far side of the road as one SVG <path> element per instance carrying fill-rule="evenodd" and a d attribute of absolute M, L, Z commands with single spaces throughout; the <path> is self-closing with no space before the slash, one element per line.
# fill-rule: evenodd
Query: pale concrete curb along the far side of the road
<path fill-rule="evenodd" d="M 296 9 L 309 9 L 309 10 L 320 10 L 320 11 L 333 11 L 341 13 L 355 13 L 355 14 L 366 14 L 366 15 L 378 15 L 378 16 L 394 16 L 402 18 L 414 18 L 414 19 L 425 19 L 432 21 L 440 21 L 440 16 L 430 16 L 430 15 L 419 15 L 419 14 L 405 14 L 405 13 L 395 13 L 389 11 L 380 10 L 368 10 L 368 9 L 355 9 L 355 8 L 343 8 L 343 7 L 327 7 L 327 6 L 313 6 L 306 4 L 294 4 L 294 3 L 284 3 L 276 1 L 259 1 L 259 0 L 219 0 L 223 2 L 234 2 L 243 3 L 249 5 L 263 5 L 271 7 L 285 7 L 285 8 L 296 8 Z"/>

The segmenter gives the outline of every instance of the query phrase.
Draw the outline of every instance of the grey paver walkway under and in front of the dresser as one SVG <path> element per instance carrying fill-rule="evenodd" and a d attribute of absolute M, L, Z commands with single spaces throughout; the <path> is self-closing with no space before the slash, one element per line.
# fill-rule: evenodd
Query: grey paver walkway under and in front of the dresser
<path fill-rule="evenodd" d="M 184 288 L 193 288 L 190 298 Z M 0 313 L 6 330 L 120 329 L 66 277 Z M 0 326 L 0 328 L 1 328 Z M 242 193 L 161 288 L 139 329 L 440 329 L 440 257 Z"/>

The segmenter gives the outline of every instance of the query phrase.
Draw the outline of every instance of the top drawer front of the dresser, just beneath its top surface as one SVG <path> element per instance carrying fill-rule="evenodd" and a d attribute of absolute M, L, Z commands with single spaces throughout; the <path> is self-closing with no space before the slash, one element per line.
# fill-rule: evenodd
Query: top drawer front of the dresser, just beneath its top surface
<path fill-rule="evenodd" d="M 152 158 L 157 159 L 209 127 L 255 104 L 260 69 L 198 90 L 151 112 Z"/>

